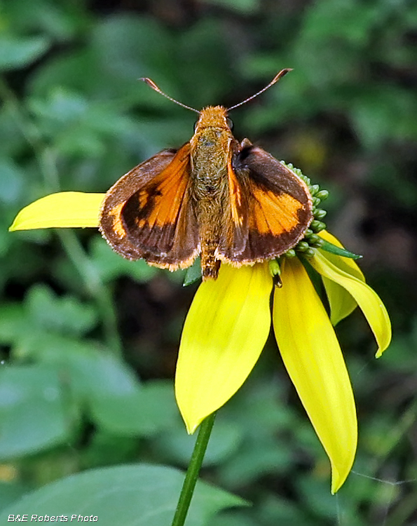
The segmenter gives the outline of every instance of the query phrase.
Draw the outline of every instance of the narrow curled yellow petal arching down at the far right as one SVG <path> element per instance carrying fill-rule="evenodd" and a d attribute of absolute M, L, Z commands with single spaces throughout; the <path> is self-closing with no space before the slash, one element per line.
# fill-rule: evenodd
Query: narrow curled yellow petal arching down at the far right
<path fill-rule="evenodd" d="M 319 274 L 339 283 L 353 296 L 374 332 L 378 344 L 376 358 L 379 358 L 391 341 L 390 317 L 380 297 L 369 285 L 336 267 L 320 252 L 317 251 L 309 261 Z"/>

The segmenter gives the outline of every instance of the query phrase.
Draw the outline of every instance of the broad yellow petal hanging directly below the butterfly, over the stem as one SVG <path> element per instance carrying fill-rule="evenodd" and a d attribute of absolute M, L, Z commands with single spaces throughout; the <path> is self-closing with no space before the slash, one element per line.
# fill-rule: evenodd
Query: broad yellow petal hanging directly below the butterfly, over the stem
<path fill-rule="evenodd" d="M 227 402 L 251 372 L 271 327 L 268 264 L 221 265 L 196 292 L 182 331 L 175 395 L 189 433 Z"/>

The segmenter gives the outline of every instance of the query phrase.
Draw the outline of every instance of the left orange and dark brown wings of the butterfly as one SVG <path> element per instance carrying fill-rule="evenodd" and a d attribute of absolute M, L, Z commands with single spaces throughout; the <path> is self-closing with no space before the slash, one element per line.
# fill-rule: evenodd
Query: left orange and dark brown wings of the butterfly
<path fill-rule="evenodd" d="M 189 198 L 190 145 L 161 151 L 107 192 L 100 230 L 129 259 L 175 270 L 198 255 L 198 226 Z"/>

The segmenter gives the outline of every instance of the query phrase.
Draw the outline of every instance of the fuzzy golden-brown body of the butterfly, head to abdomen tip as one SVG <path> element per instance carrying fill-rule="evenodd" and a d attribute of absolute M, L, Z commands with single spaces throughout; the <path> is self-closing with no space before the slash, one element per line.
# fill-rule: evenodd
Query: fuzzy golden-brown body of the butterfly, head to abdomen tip
<path fill-rule="evenodd" d="M 215 252 L 224 224 L 228 200 L 227 164 L 234 140 L 226 117 L 224 107 L 203 109 L 190 141 L 191 198 L 200 234 L 201 267 L 205 277 L 214 278 L 219 268 Z"/>

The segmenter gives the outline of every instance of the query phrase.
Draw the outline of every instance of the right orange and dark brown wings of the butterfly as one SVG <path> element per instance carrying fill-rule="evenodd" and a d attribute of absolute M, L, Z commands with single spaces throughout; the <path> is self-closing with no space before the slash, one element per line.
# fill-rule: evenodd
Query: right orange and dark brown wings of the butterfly
<path fill-rule="evenodd" d="M 219 256 L 233 264 L 273 259 L 313 220 L 307 185 L 270 154 L 244 141 L 228 165 L 230 209 Z"/>

